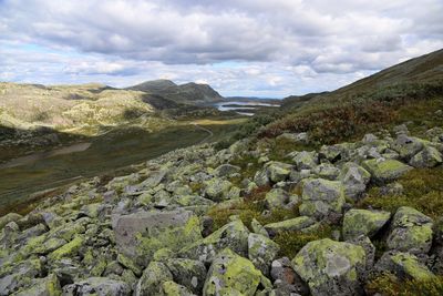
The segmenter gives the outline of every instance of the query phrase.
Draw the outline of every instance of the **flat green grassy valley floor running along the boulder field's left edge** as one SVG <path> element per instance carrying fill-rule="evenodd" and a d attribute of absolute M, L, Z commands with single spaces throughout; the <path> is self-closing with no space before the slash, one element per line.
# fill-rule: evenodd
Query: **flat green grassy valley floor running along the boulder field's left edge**
<path fill-rule="evenodd" d="M 159 156 L 175 149 L 220 141 L 230 136 L 244 119 L 183 121 L 155 133 L 143 129 L 114 130 L 105 135 L 85 137 L 91 142 L 83 152 L 39 160 L 22 166 L 0 170 L 0 215 L 25 213 L 33 207 L 29 195 L 38 191 L 73 183 L 73 177 L 119 174 L 123 167 Z M 210 130 L 198 129 L 198 125 Z M 122 173 L 127 173 L 123 170 Z"/>

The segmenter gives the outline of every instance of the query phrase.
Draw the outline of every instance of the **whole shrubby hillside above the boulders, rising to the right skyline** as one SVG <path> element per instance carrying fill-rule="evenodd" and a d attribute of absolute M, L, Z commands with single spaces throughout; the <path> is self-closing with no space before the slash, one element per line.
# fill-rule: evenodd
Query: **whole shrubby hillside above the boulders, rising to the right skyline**
<path fill-rule="evenodd" d="M 302 98 L 306 99 L 306 98 Z M 443 50 L 412 59 L 337 91 L 307 100 L 287 100 L 280 119 L 260 132 L 275 137 L 286 131 L 310 132 L 313 144 L 356 140 L 367 132 L 405 121 L 441 121 Z M 420 126 L 418 126 L 420 127 Z"/>

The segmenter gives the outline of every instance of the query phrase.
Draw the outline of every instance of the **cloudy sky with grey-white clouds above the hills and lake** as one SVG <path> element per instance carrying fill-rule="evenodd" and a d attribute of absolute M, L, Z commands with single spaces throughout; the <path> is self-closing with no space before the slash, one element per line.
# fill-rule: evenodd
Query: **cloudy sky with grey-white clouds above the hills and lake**
<path fill-rule="evenodd" d="M 0 0 L 0 81 L 333 90 L 443 48 L 442 0 Z"/>

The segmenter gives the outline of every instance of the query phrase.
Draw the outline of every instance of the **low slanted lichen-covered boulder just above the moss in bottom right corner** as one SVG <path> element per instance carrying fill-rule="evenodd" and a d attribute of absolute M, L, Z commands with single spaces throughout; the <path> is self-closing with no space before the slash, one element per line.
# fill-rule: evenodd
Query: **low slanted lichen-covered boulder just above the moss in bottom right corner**
<path fill-rule="evenodd" d="M 375 264 L 378 273 L 391 272 L 400 278 L 426 280 L 434 277 L 434 274 L 420 263 L 415 255 L 401 252 L 385 252 Z"/>

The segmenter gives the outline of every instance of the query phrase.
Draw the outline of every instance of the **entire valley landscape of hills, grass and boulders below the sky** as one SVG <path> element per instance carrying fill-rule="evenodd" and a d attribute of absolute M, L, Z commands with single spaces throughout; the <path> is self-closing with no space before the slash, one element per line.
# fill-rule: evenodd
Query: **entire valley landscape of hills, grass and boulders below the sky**
<path fill-rule="evenodd" d="M 441 295 L 442 63 L 280 106 L 164 80 L 3 100 L 0 295 Z"/>

